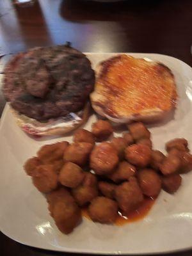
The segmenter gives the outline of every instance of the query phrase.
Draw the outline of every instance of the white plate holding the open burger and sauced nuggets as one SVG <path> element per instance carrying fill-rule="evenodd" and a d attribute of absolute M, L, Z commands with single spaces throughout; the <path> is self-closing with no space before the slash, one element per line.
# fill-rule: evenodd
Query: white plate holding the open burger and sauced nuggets
<path fill-rule="evenodd" d="M 93 67 L 112 54 L 87 54 Z M 164 150 L 164 143 L 184 137 L 192 145 L 192 70 L 184 62 L 159 54 L 131 54 L 167 65 L 175 75 L 179 102 L 175 117 L 150 127 L 154 147 Z M 90 124 L 92 116 L 85 125 Z M 45 143 L 68 140 L 34 140 L 17 127 L 6 105 L 0 127 L 0 228 L 15 241 L 38 248 L 78 253 L 164 253 L 192 247 L 192 172 L 183 176 L 182 186 L 169 195 L 161 192 L 149 214 L 140 221 L 121 227 L 83 220 L 66 236 L 54 225 L 45 198 L 31 184 L 22 164 Z"/>

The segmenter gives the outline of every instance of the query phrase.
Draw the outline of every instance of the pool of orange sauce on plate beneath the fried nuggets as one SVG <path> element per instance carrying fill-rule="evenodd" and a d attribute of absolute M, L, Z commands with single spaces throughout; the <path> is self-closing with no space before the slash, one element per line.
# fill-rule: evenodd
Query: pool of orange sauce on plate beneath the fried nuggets
<path fill-rule="evenodd" d="M 121 226 L 126 223 L 143 219 L 148 214 L 155 202 L 156 198 L 145 197 L 143 203 L 135 211 L 129 212 L 129 214 L 127 214 L 126 216 L 123 215 L 121 212 L 118 212 L 119 214 L 118 218 L 115 221 L 115 225 Z M 88 218 L 90 220 L 90 216 L 88 214 L 88 207 L 83 207 L 83 209 L 81 209 L 81 212 L 85 218 Z"/>

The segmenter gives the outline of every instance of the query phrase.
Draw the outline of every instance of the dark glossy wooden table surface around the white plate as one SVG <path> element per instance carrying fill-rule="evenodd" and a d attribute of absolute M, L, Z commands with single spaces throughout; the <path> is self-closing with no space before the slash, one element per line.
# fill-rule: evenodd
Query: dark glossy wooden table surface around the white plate
<path fill-rule="evenodd" d="M 83 52 L 156 52 L 192 66 L 191 0 L 12 3 L 0 0 L 0 56 L 70 41 Z M 3 106 L 0 93 L 0 110 Z M 1 256 L 65 254 L 24 246 L 0 233 Z M 191 256 L 192 250 L 172 255 Z"/>

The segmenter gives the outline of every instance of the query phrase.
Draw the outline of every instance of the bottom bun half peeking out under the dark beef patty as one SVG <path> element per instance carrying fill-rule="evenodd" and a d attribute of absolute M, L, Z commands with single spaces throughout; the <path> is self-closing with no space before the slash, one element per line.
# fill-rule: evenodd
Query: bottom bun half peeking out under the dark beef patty
<path fill-rule="evenodd" d="M 50 119 L 47 122 L 39 122 L 33 118 L 22 115 L 12 109 L 13 115 L 17 119 L 17 124 L 26 133 L 36 136 L 58 136 L 67 134 L 80 125 L 84 124 L 90 115 L 90 104 L 86 104 L 82 111 L 70 113 L 56 119 Z"/>

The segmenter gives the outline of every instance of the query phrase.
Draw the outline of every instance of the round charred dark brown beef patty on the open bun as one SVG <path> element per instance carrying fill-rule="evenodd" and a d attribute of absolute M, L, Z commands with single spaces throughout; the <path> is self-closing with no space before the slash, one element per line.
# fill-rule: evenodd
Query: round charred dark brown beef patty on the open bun
<path fill-rule="evenodd" d="M 94 84 L 82 52 L 69 45 L 36 47 L 6 65 L 3 92 L 19 113 L 44 121 L 83 109 Z"/>

